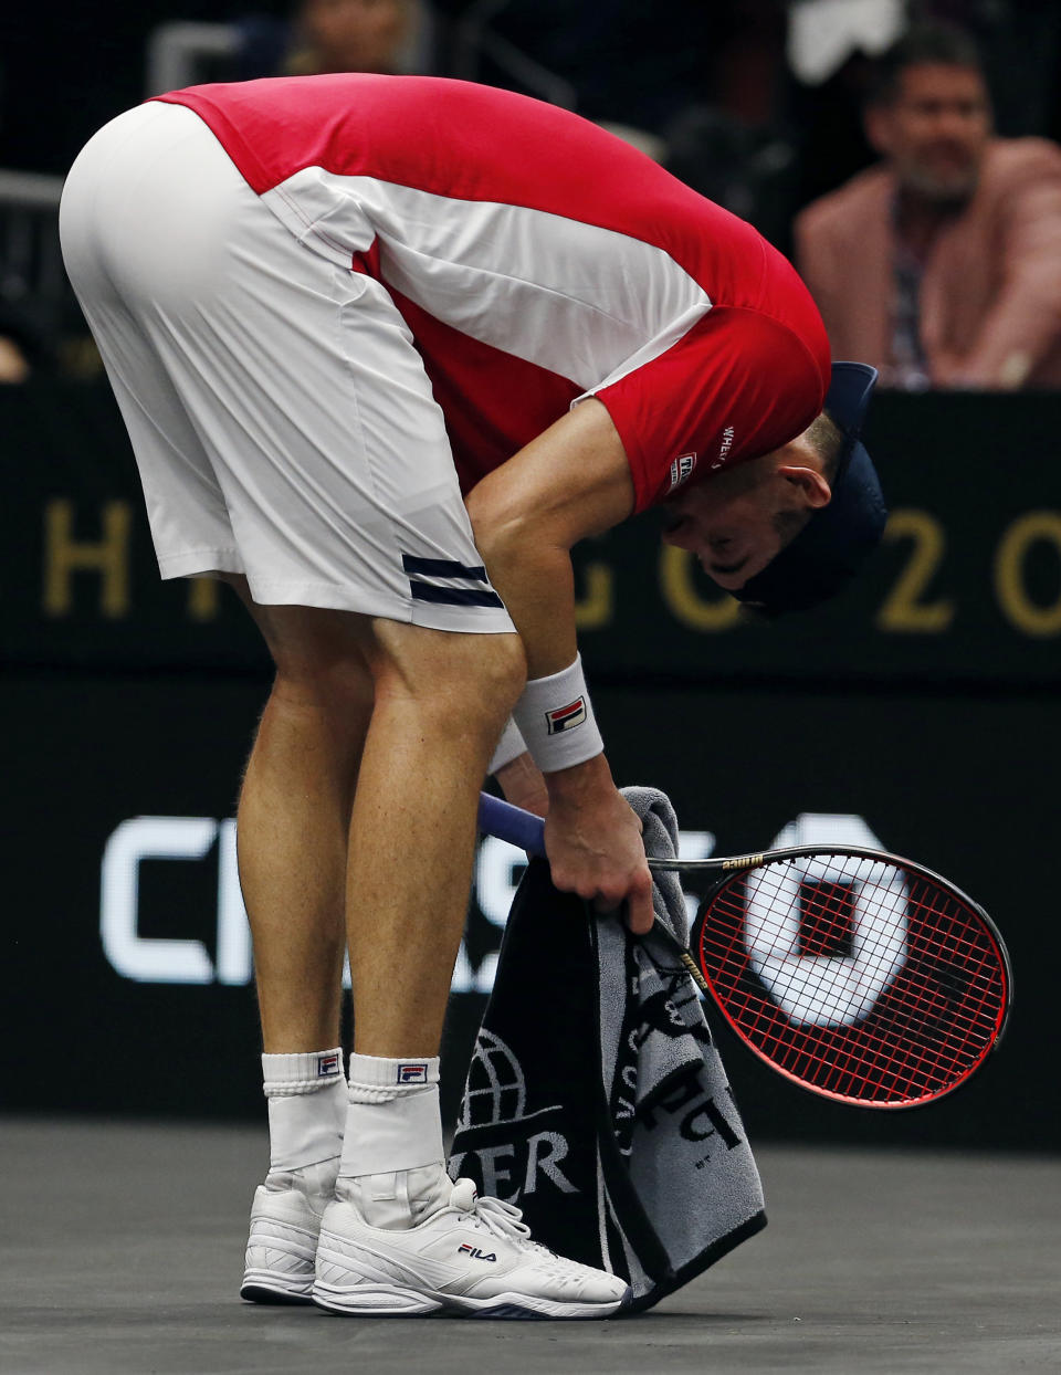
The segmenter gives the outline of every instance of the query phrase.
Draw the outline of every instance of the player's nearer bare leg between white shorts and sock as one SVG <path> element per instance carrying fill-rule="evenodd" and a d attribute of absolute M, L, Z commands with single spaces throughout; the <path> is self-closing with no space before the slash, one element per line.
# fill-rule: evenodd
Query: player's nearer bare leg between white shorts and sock
<path fill-rule="evenodd" d="M 375 710 L 350 828 L 361 1055 L 438 1053 L 465 927 L 478 789 L 522 686 L 515 635 L 377 622 Z"/>

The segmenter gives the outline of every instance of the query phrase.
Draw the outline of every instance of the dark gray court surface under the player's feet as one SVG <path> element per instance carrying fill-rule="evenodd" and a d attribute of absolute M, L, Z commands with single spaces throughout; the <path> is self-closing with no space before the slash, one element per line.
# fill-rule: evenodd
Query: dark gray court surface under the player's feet
<path fill-rule="evenodd" d="M 236 1297 L 265 1134 L 0 1118 L 0 1371 L 1061 1371 L 1061 1162 L 761 1147 L 770 1226 L 609 1323 L 341 1319 Z"/>

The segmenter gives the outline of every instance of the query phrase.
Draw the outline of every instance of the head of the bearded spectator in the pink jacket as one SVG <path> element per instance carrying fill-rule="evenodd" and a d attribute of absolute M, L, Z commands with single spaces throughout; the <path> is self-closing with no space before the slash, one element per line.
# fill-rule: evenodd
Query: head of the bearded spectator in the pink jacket
<path fill-rule="evenodd" d="M 904 190 L 937 204 L 968 199 L 991 135 L 973 38 L 947 23 L 914 25 L 878 63 L 866 133 Z"/>

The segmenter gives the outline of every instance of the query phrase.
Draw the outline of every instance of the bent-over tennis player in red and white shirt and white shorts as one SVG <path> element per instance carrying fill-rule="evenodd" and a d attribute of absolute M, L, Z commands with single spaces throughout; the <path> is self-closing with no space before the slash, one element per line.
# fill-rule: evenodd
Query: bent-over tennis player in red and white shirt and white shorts
<path fill-rule="evenodd" d="M 513 714 L 493 767 L 518 789 L 525 747 L 544 776 L 555 883 L 650 927 L 569 550 L 664 503 L 667 539 L 767 610 L 842 580 L 882 509 L 822 415 L 811 297 L 613 136 L 438 78 L 162 96 L 88 143 L 60 228 L 161 573 L 234 583 L 276 664 L 238 821 L 271 1134 L 243 1297 L 614 1313 L 621 1279 L 445 1174 L 477 796 Z"/>

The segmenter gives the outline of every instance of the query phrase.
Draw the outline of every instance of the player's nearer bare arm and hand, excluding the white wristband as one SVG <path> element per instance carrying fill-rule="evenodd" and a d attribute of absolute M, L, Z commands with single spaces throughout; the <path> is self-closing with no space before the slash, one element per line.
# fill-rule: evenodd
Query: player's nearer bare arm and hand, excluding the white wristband
<path fill-rule="evenodd" d="M 522 638 L 528 679 L 569 668 L 577 654 L 570 550 L 634 510 L 629 465 L 606 408 L 583 402 L 484 477 L 467 509 L 491 582 Z M 651 876 L 640 824 L 616 791 L 606 758 L 544 777 L 546 848 L 557 887 L 602 906 L 625 901 L 631 928 L 647 931 Z"/>

